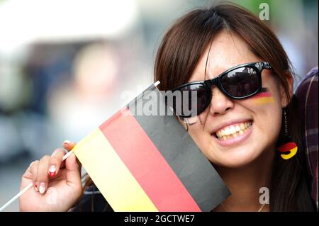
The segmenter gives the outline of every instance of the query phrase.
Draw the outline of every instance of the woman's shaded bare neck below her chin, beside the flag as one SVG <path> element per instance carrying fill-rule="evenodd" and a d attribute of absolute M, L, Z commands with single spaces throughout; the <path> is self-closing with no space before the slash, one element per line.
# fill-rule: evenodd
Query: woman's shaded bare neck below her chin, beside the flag
<path fill-rule="evenodd" d="M 262 208 L 263 203 L 259 203 L 259 197 L 262 196 L 263 193 L 259 193 L 259 189 L 269 187 L 273 159 L 274 149 L 271 149 L 264 152 L 251 164 L 240 168 L 215 166 L 232 193 L 231 196 L 223 202 L 223 205 L 219 205 L 215 210 L 258 211 L 259 208 Z M 269 210 L 269 205 L 264 205 L 262 211 L 267 210 Z"/>

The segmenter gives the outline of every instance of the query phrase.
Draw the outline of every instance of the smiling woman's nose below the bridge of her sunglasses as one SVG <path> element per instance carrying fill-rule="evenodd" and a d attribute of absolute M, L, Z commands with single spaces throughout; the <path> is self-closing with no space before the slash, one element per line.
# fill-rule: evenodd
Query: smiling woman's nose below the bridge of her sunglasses
<path fill-rule="evenodd" d="M 232 99 L 223 94 L 217 87 L 212 88 L 212 98 L 210 113 L 213 115 L 223 115 L 226 111 L 234 107 Z"/>

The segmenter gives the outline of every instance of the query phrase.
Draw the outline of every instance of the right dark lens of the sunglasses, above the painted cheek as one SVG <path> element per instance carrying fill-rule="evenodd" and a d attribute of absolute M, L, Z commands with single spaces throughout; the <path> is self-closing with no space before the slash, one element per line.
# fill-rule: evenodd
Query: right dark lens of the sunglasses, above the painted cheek
<path fill-rule="evenodd" d="M 241 67 L 225 74 L 220 83 L 230 96 L 245 97 L 258 90 L 260 81 L 256 69 Z"/>

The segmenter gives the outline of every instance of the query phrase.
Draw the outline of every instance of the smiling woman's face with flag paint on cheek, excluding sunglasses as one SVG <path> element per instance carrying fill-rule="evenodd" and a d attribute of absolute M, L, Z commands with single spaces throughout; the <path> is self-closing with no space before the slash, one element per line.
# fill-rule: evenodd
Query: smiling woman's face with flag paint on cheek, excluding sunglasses
<path fill-rule="evenodd" d="M 208 49 L 189 81 L 204 80 L 207 55 Z M 221 32 L 211 45 L 206 79 L 213 79 L 238 64 L 260 61 L 243 40 Z M 235 101 L 213 86 L 210 106 L 189 119 L 189 134 L 213 164 L 240 167 L 263 153 L 274 152 L 281 128 L 281 108 L 286 101 L 279 80 L 268 69 L 262 71 L 262 87 L 268 89 L 267 98 L 257 95 Z"/>

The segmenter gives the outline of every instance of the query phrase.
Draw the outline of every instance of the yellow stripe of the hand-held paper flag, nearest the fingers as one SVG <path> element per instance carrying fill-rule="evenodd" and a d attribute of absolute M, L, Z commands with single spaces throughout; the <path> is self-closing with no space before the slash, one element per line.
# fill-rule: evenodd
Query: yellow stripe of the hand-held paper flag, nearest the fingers
<path fill-rule="evenodd" d="M 158 211 L 99 128 L 73 152 L 114 211 Z"/>

